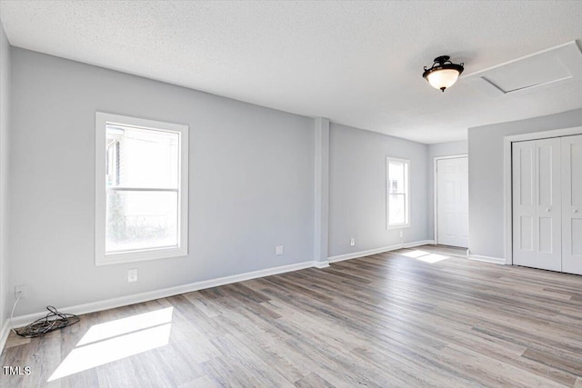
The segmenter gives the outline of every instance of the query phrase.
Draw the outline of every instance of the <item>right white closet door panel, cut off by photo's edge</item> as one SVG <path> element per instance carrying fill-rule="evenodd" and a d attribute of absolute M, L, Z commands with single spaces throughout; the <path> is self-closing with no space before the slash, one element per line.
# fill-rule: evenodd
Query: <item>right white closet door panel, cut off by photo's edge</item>
<path fill-rule="evenodd" d="M 582 134 L 561 140 L 562 270 L 582 274 Z"/>

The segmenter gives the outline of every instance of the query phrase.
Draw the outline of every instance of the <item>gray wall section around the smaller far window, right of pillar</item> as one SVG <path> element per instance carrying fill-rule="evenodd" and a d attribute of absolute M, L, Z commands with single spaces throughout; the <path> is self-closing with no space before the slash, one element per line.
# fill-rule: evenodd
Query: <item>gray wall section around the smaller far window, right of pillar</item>
<path fill-rule="evenodd" d="M 329 137 L 329 256 L 426 240 L 427 145 L 333 123 Z M 410 160 L 409 228 L 386 230 L 386 156 Z"/>

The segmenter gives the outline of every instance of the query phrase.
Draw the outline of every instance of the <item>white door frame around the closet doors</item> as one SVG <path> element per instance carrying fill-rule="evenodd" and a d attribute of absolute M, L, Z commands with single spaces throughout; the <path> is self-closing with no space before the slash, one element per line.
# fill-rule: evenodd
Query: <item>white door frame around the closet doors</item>
<path fill-rule="evenodd" d="M 505 209 L 505 251 L 506 264 L 513 264 L 513 235 L 512 235 L 512 187 L 511 187 L 511 144 L 514 142 L 523 142 L 526 140 L 547 139 L 548 137 L 561 137 L 572 134 L 582 134 L 582 126 L 571 128 L 555 129 L 551 131 L 533 132 L 529 134 L 513 134 L 503 138 L 503 190 L 505 192 L 504 209 Z"/>

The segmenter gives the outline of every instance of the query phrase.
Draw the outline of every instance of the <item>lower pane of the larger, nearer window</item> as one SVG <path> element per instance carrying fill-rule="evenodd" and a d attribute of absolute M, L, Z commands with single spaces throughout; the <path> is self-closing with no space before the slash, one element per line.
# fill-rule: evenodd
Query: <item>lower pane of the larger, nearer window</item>
<path fill-rule="evenodd" d="M 105 253 L 178 245 L 176 192 L 107 192 Z"/>

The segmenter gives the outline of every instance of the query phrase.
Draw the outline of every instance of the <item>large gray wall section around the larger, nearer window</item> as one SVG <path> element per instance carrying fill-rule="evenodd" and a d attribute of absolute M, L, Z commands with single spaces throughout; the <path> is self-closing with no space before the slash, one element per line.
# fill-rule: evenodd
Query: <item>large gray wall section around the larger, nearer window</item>
<path fill-rule="evenodd" d="M 313 260 L 313 119 L 18 48 L 12 61 L 16 315 Z M 189 125 L 188 256 L 95 267 L 95 111 Z"/>

